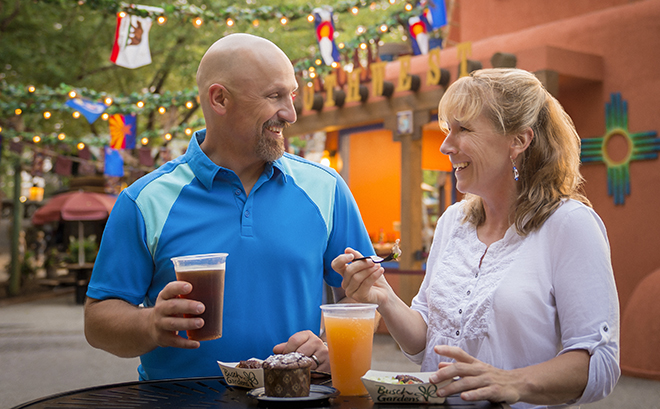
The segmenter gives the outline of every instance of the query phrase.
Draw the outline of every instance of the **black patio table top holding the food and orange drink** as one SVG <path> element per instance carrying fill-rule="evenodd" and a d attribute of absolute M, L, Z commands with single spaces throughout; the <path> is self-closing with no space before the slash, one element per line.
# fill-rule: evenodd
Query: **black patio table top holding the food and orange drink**
<path fill-rule="evenodd" d="M 294 402 L 264 402 L 248 390 L 228 386 L 223 377 L 136 381 L 64 392 L 16 406 L 19 408 L 331 408 L 331 409 L 510 409 L 506 403 L 466 402 L 450 396 L 443 405 L 374 403 L 368 396 Z"/>

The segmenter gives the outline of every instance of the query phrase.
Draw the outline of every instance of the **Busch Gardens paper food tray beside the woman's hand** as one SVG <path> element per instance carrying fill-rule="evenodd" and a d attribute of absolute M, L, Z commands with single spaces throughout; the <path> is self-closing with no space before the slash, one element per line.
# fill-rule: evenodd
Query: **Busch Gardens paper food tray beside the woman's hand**
<path fill-rule="evenodd" d="M 438 389 L 451 380 L 434 385 L 429 382 L 432 373 L 368 371 L 362 383 L 374 403 L 441 404 L 445 398 L 437 395 Z"/>

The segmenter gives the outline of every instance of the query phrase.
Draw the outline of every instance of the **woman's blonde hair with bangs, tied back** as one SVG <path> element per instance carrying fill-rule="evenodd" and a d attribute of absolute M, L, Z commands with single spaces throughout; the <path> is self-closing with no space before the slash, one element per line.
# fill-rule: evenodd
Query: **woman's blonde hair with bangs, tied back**
<path fill-rule="evenodd" d="M 454 82 L 438 106 L 441 125 L 470 122 L 482 113 L 502 136 L 527 129 L 534 133 L 518 161 L 520 189 L 513 222 L 519 234 L 540 228 L 562 199 L 591 206 L 581 192 L 580 137 L 573 121 L 532 73 L 515 68 L 475 71 Z M 467 194 L 465 200 L 465 221 L 482 224 L 482 199 Z"/>

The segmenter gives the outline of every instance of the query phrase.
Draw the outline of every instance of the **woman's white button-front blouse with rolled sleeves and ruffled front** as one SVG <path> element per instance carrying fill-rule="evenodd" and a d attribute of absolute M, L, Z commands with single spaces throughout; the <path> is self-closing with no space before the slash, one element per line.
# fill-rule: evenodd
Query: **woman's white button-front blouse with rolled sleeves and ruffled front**
<path fill-rule="evenodd" d="M 584 349 L 591 355 L 589 382 L 574 403 L 607 396 L 620 375 L 619 303 L 607 232 L 596 212 L 568 200 L 539 230 L 522 237 L 511 226 L 490 246 L 462 219 L 463 202 L 450 206 L 436 226 L 412 302 L 428 325 L 426 349 L 409 358 L 422 371 L 435 371 L 448 360 L 433 352 L 443 344 L 514 369 Z"/>

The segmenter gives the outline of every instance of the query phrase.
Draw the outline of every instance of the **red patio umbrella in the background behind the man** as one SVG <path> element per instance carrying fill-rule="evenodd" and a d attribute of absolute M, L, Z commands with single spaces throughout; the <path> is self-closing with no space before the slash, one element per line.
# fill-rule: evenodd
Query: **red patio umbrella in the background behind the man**
<path fill-rule="evenodd" d="M 85 220 L 103 220 L 112 211 L 117 200 L 116 196 L 104 193 L 85 191 L 66 192 L 55 195 L 48 203 L 40 207 L 32 215 L 32 224 L 40 225 L 59 220 L 78 222 L 78 264 L 85 263 L 85 252 L 83 249 L 84 229 L 82 222 Z"/>

